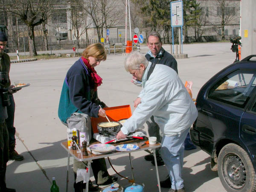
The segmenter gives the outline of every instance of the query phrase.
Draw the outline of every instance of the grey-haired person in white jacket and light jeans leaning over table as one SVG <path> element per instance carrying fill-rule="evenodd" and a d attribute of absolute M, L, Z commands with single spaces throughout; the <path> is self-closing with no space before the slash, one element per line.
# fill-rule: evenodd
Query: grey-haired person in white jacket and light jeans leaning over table
<path fill-rule="evenodd" d="M 140 128 L 152 115 L 163 133 L 161 157 L 172 181 L 169 192 L 185 192 L 181 169 L 184 140 L 198 116 L 197 109 L 179 76 L 170 67 L 153 65 L 138 52 L 125 59 L 125 70 L 142 82 L 137 108 L 126 120 L 117 139 Z"/>

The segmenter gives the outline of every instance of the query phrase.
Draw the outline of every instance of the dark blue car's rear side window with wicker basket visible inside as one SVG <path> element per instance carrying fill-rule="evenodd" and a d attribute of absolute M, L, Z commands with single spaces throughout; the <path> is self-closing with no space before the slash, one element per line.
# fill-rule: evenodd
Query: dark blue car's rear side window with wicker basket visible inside
<path fill-rule="evenodd" d="M 208 98 L 243 108 L 256 85 L 256 71 L 236 70 L 209 90 Z"/>

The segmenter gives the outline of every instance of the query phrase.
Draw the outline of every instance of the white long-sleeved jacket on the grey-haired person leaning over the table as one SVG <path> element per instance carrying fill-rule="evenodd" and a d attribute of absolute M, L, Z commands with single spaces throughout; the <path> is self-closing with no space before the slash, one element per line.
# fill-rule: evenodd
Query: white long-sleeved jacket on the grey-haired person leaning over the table
<path fill-rule="evenodd" d="M 171 67 L 157 64 L 147 79 L 151 62 L 142 79 L 141 103 L 121 128 L 123 134 L 134 132 L 153 115 L 164 135 L 175 136 L 190 128 L 197 109 L 179 76 Z"/>

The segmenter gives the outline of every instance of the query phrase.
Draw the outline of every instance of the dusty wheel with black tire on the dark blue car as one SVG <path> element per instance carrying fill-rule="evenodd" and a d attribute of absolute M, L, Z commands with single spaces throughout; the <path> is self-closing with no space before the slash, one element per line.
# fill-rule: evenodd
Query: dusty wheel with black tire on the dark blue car
<path fill-rule="evenodd" d="M 218 175 L 227 192 L 256 190 L 256 174 L 250 157 L 234 143 L 221 149 L 218 155 Z"/>

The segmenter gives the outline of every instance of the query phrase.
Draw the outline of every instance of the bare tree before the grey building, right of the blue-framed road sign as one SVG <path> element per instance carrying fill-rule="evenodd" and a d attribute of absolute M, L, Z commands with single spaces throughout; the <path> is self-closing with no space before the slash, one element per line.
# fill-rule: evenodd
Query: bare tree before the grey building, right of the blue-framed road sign
<path fill-rule="evenodd" d="M 210 14 L 216 18 L 212 22 L 213 25 L 220 25 L 221 39 L 225 40 L 225 26 L 236 22 L 237 14 L 239 14 L 239 0 L 214 0 L 212 1 L 212 9 Z"/>

